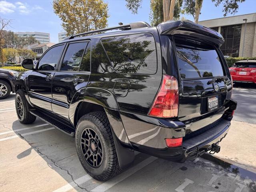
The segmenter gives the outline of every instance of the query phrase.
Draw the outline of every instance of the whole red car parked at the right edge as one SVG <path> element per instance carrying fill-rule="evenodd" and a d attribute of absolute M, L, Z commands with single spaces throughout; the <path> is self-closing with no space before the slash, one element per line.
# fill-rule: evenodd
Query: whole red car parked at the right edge
<path fill-rule="evenodd" d="M 256 60 L 235 62 L 229 71 L 233 82 L 256 83 Z"/>

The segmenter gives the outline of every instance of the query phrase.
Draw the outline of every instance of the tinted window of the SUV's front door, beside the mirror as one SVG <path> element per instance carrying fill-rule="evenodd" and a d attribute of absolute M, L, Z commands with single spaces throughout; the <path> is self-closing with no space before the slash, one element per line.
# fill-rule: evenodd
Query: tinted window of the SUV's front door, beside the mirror
<path fill-rule="evenodd" d="M 53 71 L 55 70 L 58 60 L 62 54 L 64 45 L 51 48 L 44 54 L 38 62 L 38 70 Z"/>

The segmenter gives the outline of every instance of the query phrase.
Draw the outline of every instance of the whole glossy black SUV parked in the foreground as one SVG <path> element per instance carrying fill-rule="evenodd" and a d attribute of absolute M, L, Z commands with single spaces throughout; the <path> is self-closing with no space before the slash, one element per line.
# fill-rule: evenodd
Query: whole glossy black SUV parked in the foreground
<path fill-rule="evenodd" d="M 110 30 L 116 30 L 109 32 Z M 16 80 L 16 112 L 75 136 L 84 169 L 108 180 L 134 150 L 184 162 L 219 152 L 236 109 L 216 31 L 136 22 L 72 35 Z"/>

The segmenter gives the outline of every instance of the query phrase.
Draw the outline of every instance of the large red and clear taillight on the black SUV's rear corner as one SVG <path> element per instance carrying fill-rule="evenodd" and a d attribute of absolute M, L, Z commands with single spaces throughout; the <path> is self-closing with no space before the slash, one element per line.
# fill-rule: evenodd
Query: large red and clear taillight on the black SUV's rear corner
<path fill-rule="evenodd" d="M 172 118 L 178 116 L 178 109 L 178 81 L 174 76 L 163 75 L 161 88 L 148 115 L 159 118 Z"/>

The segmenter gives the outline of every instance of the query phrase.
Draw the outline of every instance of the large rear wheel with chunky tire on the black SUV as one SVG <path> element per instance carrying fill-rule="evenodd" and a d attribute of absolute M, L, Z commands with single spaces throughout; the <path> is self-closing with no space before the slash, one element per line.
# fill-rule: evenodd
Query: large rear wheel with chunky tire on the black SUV
<path fill-rule="evenodd" d="M 96 180 L 106 181 L 121 171 L 105 112 L 91 112 L 80 118 L 76 126 L 76 151 L 86 172 Z"/>

